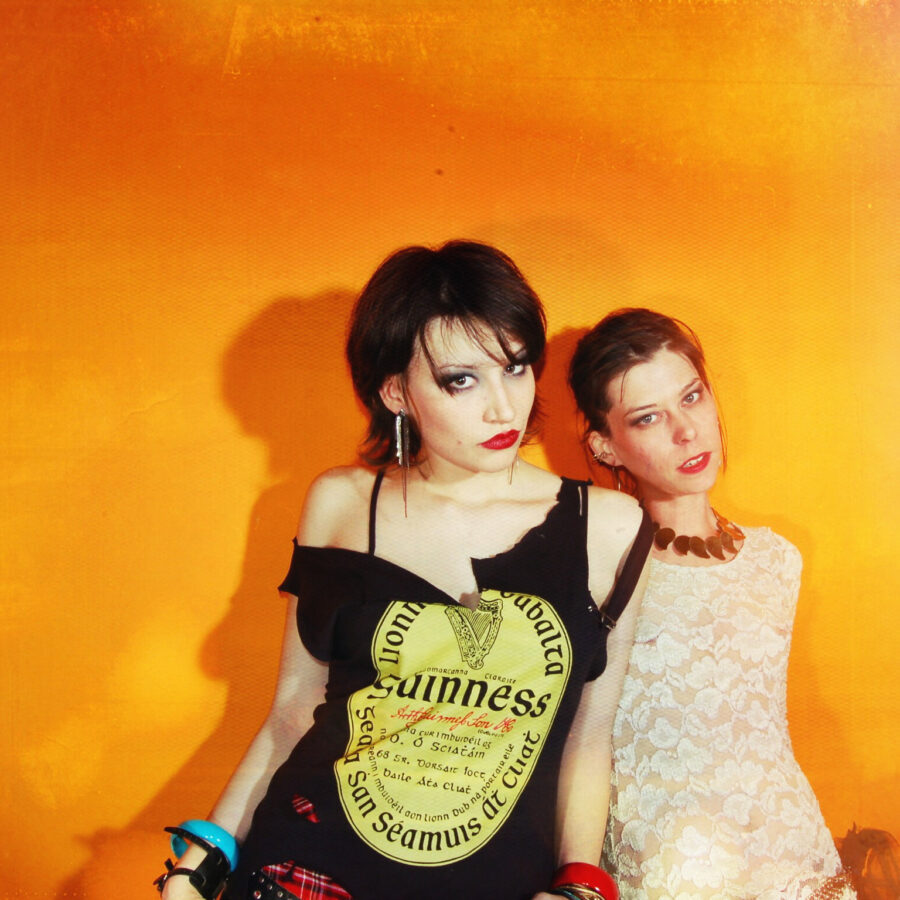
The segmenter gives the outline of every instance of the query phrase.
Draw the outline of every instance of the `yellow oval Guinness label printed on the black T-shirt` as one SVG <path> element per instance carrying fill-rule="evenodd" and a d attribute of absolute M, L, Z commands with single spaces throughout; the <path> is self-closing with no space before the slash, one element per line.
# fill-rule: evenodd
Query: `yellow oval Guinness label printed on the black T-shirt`
<path fill-rule="evenodd" d="M 350 739 L 334 767 L 347 818 L 406 864 L 469 856 L 540 758 L 571 672 L 566 630 L 530 594 L 483 591 L 476 609 L 394 601 L 372 661 L 378 676 L 349 699 Z"/>

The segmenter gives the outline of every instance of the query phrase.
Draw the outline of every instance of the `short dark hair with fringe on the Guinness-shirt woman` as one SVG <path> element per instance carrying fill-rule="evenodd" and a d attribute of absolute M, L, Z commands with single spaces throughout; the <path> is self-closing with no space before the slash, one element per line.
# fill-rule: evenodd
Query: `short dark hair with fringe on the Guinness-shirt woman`
<path fill-rule="evenodd" d="M 449 241 L 436 249 L 405 247 L 392 253 L 363 288 L 350 319 L 347 362 L 356 395 L 369 412 L 364 459 L 385 465 L 393 456 L 394 417 L 379 391 L 391 375 L 406 372 L 417 347 L 432 364 L 425 331 L 432 319 L 459 323 L 479 344 L 496 338 L 509 362 L 539 367 L 546 319 L 537 294 L 500 250 L 475 241 Z M 437 379 L 435 379 L 437 380 Z M 409 422 L 413 459 L 421 447 Z"/>

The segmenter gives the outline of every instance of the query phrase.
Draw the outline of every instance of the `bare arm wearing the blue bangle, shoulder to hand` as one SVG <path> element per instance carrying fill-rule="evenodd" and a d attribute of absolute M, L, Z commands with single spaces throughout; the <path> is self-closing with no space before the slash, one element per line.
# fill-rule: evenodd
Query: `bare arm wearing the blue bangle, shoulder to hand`
<path fill-rule="evenodd" d="M 323 546 L 332 541 L 339 522 L 336 511 L 352 501 L 347 481 L 337 472 L 326 473 L 312 485 L 297 532 L 299 543 Z M 288 599 L 288 608 L 275 698 L 262 727 L 209 815 L 210 821 L 233 834 L 239 844 L 275 770 L 312 725 L 313 710 L 325 696 L 328 679 L 328 667 L 315 659 L 300 640 L 297 598 L 291 594 L 282 596 Z M 206 851 L 189 844 L 177 865 L 194 869 L 205 856 Z M 198 900 L 199 897 L 186 876 L 171 878 L 163 891 L 163 900 Z"/>

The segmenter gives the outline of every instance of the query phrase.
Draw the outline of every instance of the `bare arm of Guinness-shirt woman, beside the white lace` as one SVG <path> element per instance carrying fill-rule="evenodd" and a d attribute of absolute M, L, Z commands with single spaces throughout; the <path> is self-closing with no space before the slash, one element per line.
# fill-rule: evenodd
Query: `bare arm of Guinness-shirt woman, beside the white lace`
<path fill-rule="evenodd" d="M 592 594 L 598 606 L 612 591 L 634 543 L 641 517 L 640 508 L 630 497 L 591 490 L 588 558 Z M 566 741 L 556 809 L 560 866 L 570 862 L 591 865 L 600 862 L 609 807 L 612 728 L 631 655 L 647 570 L 645 563 L 628 605 L 616 627 L 607 635 L 606 668 L 603 674 L 584 686 Z"/>

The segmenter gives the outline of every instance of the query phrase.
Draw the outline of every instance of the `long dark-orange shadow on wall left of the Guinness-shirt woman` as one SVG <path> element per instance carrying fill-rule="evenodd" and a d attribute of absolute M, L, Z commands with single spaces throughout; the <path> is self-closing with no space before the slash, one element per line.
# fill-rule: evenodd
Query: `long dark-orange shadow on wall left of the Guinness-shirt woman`
<path fill-rule="evenodd" d="M 168 851 L 163 827 L 207 814 L 262 724 L 284 624 L 276 587 L 290 561 L 303 496 L 323 469 L 353 462 L 364 435 L 344 362 L 353 300 L 346 291 L 276 300 L 223 357 L 225 402 L 243 430 L 265 444 L 274 483 L 253 505 L 240 584 L 225 617 L 210 623 L 201 650 L 203 672 L 227 690 L 222 719 L 130 822 L 84 838 L 90 858 L 61 885 L 57 900 L 154 896 L 152 881 Z M 159 689 L 165 684 L 161 678 Z"/>

